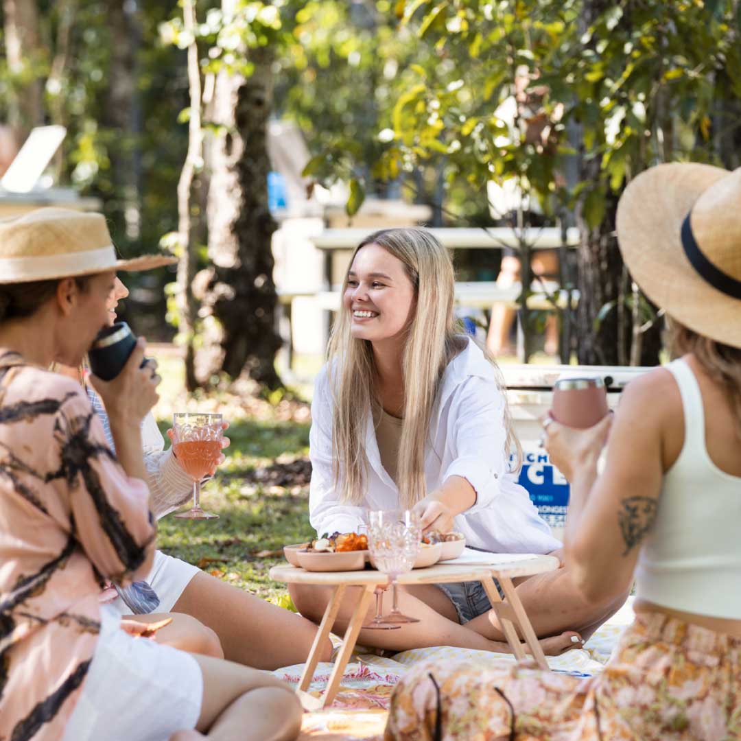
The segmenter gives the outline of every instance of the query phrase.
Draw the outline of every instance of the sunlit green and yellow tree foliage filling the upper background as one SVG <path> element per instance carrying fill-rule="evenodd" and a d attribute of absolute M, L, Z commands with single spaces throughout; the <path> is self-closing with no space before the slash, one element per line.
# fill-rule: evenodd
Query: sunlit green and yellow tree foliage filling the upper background
<path fill-rule="evenodd" d="M 348 182 L 350 214 L 371 192 L 428 202 L 438 224 L 579 226 L 583 362 L 639 360 L 640 330 L 654 319 L 612 236 L 625 182 L 658 162 L 741 164 L 739 0 L 184 2 L 192 29 L 183 3 L 2 6 L 5 120 L 19 136 L 43 122 L 67 127 L 62 182 L 102 199 L 124 253 L 182 231 L 175 194 L 194 110 L 189 48 L 204 143 L 191 160 L 187 211 L 194 271 L 215 259 L 205 196 L 211 143 L 232 133 L 213 113 L 216 79 L 259 73 L 270 115 L 305 134 L 306 172 Z M 488 184 L 508 181 L 527 207 L 490 213 Z M 270 229 L 261 233 L 243 249 L 269 250 Z M 133 302 L 164 314 L 162 287 L 173 277 L 139 279 Z M 167 334 L 139 319 L 139 330 Z M 193 322 L 201 331 L 198 316 Z"/>

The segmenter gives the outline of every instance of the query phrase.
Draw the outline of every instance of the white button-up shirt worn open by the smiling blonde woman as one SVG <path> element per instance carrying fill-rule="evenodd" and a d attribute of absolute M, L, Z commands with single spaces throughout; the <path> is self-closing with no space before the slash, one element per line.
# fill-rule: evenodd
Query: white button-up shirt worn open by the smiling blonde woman
<path fill-rule="evenodd" d="M 468 347 L 448 364 L 440 385 L 425 455 L 427 490 L 436 490 L 451 476 L 462 476 L 473 486 L 476 502 L 455 519 L 456 530 L 471 547 L 493 553 L 549 553 L 561 543 L 508 469 L 504 411 L 505 396 L 494 368 L 469 339 Z M 316 379 L 309 438 L 309 515 L 320 536 L 357 532 L 368 510 L 399 506 L 399 489 L 383 468 L 370 411 L 365 430 L 367 491 L 361 505 L 340 501 L 332 475 L 332 413 L 325 366 Z"/>

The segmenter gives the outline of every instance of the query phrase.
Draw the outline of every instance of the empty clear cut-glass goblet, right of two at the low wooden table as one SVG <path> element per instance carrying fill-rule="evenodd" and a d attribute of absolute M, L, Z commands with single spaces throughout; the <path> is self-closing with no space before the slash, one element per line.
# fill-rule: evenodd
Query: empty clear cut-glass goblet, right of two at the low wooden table
<path fill-rule="evenodd" d="M 396 579 L 412 570 L 422 542 L 422 525 L 409 510 L 376 511 L 369 515 L 368 548 L 379 571 L 391 579 L 391 613 L 384 622 L 405 624 L 419 622 L 399 611 L 396 602 Z"/>

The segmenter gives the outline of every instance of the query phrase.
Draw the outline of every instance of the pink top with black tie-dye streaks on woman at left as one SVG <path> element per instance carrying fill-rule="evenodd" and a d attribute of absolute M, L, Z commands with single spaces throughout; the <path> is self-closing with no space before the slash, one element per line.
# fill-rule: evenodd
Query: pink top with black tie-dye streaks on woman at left
<path fill-rule="evenodd" d="M 82 388 L 0 350 L 0 741 L 62 738 L 102 582 L 147 574 L 155 531 Z"/>

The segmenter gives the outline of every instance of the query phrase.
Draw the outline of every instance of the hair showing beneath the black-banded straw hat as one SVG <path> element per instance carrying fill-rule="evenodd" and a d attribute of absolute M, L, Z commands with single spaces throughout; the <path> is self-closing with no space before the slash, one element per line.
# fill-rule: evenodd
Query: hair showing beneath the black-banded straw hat
<path fill-rule="evenodd" d="M 722 388 L 736 418 L 736 433 L 741 439 L 741 348 L 723 345 L 669 318 L 669 346 L 673 356 L 692 353 L 697 362 Z"/>

